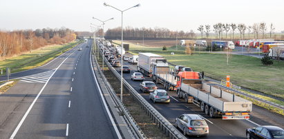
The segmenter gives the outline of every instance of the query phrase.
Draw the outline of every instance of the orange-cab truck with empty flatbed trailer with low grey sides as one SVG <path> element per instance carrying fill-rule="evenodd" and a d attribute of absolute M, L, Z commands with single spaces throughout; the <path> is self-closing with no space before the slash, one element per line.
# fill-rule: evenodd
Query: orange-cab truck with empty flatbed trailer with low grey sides
<path fill-rule="evenodd" d="M 178 98 L 200 107 L 210 117 L 223 120 L 249 119 L 252 102 L 229 93 L 217 84 L 204 81 L 198 72 L 179 72 Z"/>

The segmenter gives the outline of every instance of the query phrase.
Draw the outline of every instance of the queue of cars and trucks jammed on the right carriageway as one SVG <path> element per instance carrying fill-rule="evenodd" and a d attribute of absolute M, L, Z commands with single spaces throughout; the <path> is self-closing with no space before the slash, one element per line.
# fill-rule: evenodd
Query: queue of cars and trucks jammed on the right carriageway
<path fill-rule="evenodd" d="M 205 111 L 205 114 L 211 117 L 222 116 L 223 120 L 249 118 L 249 114 L 252 111 L 252 102 L 235 96 L 234 93 L 226 92 L 227 90 L 203 80 L 200 73 L 192 72 L 190 67 L 178 65 L 175 67 L 176 70 L 171 71 L 168 68 L 167 60 L 163 56 L 151 53 L 140 54 L 138 56 L 138 72 L 134 72 L 131 75 L 131 79 L 143 81 L 140 84 L 140 90 L 149 92 L 149 99 L 153 100 L 153 103 L 170 102 L 167 91 L 158 89 L 155 83 L 162 83 L 166 86 L 170 85 L 169 83 L 173 83 L 171 87 L 165 88 L 176 89 L 178 97 L 184 98 L 187 103 L 198 105 L 202 111 Z M 127 66 L 127 68 L 129 67 Z M 169 70 L 167 71 L 167 69 Z M 146 76 L 151 76 L 155 83 L 144 81 L 144 77 L 140 72 Z M 176 83 L 176 86 L 174 86 L 174 83 Z M 181 129 L 184 135 L 207 136 L 209 134 L 209 127 L 205 118 L 198 114 L 182 114 L 182 116 L 176 118 L 175 127 Z M 283 129 L 273 127 L 270 131 L 267 129 L 268 127 L 247 129 L 245 133 L 247 138 L 284 138 Z M 269 131 L 265 132 L 265 128 Z M 264 135 L 263 132 L 266 134 Z"/>

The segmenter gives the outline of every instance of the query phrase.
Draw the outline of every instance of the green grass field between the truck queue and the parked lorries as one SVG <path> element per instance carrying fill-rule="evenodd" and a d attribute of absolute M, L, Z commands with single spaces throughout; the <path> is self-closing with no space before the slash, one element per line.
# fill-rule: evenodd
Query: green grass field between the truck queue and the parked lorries
<path fill-rule="evenodd" d="M 120 41 L 116 41 L 120 43 Z M 186 65 L 194 71 L 205 72 L 205 76 L 217 80 L 231 76 L 231 82 L 235 85 L 257 90 L 276 97 L 284 98 L 284 62 L 274 61 L 271 66 L 261 64 L 260 58 L 250 56 L 232 55 L 227 65 L 225 54 L 196 53 L 184 54 L 184 48 L 168 47 L 162 51 L 162 47 L 143 47 L 142 45 L 130 45 L 133 54 L 139 52 L 152 52 L 165 56 L 175 65 Z M 175 55 L 171 55 L 175 52 Z"/>

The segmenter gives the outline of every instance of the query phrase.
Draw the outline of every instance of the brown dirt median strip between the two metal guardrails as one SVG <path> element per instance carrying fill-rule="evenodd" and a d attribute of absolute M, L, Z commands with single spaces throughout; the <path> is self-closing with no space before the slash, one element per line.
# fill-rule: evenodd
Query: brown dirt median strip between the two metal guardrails
<path fill-rule="evenodd" d="M 100 58 L 100 61 L 98 62 L 100 66 L 102 66 L 102 58 Z M 120 97 L 120 81 L 108 68 L 104 68 L 104 75 L 108 79 L 108 82 L 111 83 L 111 86 L 115 90 L 117 96 Z M 151 118 L 149 118 L 146 112 L 141 109 L 140 105 L 138 105 L 138 103 L 136 103 L 135 100 L 131 98 L 128 90 L 125 87 L 123 89 L 123 103 L 131 113 L 131 116 L 133 116 L 134 120 L 145 133 L 147 138 L 168 138 L 158 128 L 158 125 L 156 125 L 155 122 L 153 122 Z"/>

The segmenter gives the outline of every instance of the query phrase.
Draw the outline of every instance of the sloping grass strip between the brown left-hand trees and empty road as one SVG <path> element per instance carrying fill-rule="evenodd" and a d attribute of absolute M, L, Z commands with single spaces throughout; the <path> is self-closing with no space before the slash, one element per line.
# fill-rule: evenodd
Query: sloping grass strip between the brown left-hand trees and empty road
<path fill-rule="evenodd" d="M 0 67 L 3 69 L 3 74 L 6 74 L 6 67 L 9 67 L 12 73 L 39 67 L 70 50 L 72 47 L 75 47 L 78 43 L 82 43 L 82 41 L 76 41 L 66 45 L 49 45 L 41 47 L 37 50 L 32 50 L 32 52 L 6 58 L 5 60 L 0 61 Z"/>

